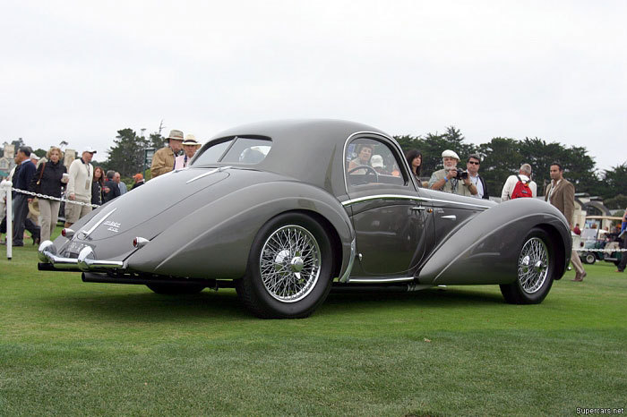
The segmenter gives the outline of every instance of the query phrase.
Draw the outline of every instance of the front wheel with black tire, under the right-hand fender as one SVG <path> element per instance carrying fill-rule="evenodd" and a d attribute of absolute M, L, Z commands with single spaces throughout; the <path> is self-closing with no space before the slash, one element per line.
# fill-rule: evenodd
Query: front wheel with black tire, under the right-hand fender
<path fill-rule="evenodd" d="M 553 285 L 554 245 L 550 236 L 536 227 L 525 237 L 519 253 L 516 281 L 500 285 L 501 294 L 511 304 L 538 304 Z"/>

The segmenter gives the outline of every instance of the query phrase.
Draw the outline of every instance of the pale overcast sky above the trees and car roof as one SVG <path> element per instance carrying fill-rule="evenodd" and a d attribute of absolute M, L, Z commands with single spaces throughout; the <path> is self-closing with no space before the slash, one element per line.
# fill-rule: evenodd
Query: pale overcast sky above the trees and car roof
<path fill-rule="evenodd" d="M 8 4 L 7 4 L 8 3 Z M 346 119 L 627 162 L 627 2 L 107 1 L 0 7 L 0 143 Z"/>

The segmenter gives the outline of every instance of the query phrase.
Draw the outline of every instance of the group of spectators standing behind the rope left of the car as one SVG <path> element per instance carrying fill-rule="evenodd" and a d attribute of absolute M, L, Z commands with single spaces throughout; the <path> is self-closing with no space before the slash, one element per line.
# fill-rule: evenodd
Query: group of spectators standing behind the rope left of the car
<path fill-rule="evenodd" d="M 183 132 L 171 131 L 167 137 L 167 146 L 159 149 L 152 159 L 152 177 L 185 168 L 201 145 L 192 134 L 184 138 Z M 129 191 L 121 181 L 120 173 L 113 170 L 105 172 L 101 166 L 92 166 L 91 160 L 96 152 L 91 147 L 83 149 L 81 157 L 74 159 L 66 169 L 63 152 L 55 146 L 42 158 L 37 157 L 30 147 L 22 146 L 18 149 L 14 157 L 16 165 L 6 181 L 12 181 L 13 188 L 49 198 L 37 198 L 39 216 L 33 216 L 35 197 L 13 191 L 13 246 L 24 245 L 25 230 L 30 233 L 32 244 L 50 239 L 58 221 L 63 194 L 66 198 L 64 226 L 70 227 L 89 214 L 93 206 L 105 204 Z M 133 181 L 131 190 L 144 183 L 143 174 L 134 174 Z M 4 192 L 4 188 L 2 190 Z M 1 238 L 6 234 L 5 201 L 6 196 L 0 195 L 0 243 L 3 244 L 5 242 Z"/>

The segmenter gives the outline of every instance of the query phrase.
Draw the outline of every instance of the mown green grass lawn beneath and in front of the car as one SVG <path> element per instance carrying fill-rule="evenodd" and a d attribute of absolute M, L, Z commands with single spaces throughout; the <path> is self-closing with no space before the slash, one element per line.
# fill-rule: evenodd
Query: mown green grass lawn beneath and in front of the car
<path fill-rule="evenodd" d="M 575 415 L 627 407 L 627 277 L 586 266 L 540 305 L 498 287 L 331 294 L 262 320 L 186 296 L 39 272 L 0 247 L 0 415 Z"/>

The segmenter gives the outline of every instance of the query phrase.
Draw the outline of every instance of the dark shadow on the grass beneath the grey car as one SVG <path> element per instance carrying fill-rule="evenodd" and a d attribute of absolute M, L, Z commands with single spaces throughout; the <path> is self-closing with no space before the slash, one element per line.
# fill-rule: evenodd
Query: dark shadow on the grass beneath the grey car
<path fill-rule="evenodd" d="M 39 308 L 61 315 L 144 322 L 194 321 L 198 319 L 253 319 L 231 289 L 200 294 L 162 295 L 148 289 L 143 292 L 120 292 L 118 289 L 96 289 L 74 294 L 47 294 L 36 301 Z M 344 315 L 347 311 L 380 310 L 394 307 L 451 308 L 474 306 L 478 309 L 503 305 L 500 294 L 471 289 L 428 289 L 414 293 L 331 293 L 318 308 L 326 317 Z"/>

